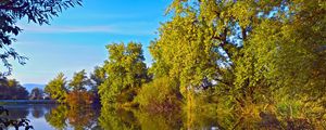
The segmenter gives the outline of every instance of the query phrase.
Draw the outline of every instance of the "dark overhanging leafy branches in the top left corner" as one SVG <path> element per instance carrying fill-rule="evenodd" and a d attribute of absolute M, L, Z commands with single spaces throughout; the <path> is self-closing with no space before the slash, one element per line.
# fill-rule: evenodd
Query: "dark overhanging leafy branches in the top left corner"
<path fill-rule="evenodd" d="M 21 64 L 25 64 L 27 60 L 25 56 L 18 55 L 11 44 L 22 28 L 16 23 L 17 21 L 26 17 L 28 22 L 39 25 L 50 24 L 53 16 L 58 16 L 63 10 L 71 6 L 82 5 L 82 0 L 1 0 L 0 1 L 0 58 L 9 72 L 12 67 L 8 62 L 13 57 Z M 2 72 L 3 73 L 3 72 Z"/>

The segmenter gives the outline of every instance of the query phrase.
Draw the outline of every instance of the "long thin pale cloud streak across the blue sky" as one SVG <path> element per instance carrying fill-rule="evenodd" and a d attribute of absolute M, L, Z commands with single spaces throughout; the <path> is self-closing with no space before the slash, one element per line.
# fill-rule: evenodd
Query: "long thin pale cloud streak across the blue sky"
<path fill-rule="evenodd" d="M 37 25 L 20 25 L 24 31 L 41 32 L 41 34 L 114 34 L 114 35 L 153 35 L 154 31 L 146 27 L 143 23 L 140 25 L 126 24 L 125 26 L 100 25 L 100 26 L 37 26 Z"/>

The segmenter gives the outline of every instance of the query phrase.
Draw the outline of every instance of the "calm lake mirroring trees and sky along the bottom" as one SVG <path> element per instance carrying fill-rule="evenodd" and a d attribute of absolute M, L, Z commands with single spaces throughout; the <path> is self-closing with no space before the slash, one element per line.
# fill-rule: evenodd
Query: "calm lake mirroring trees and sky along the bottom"
<path fill-rule="evenodd" d="M 273 120 L 272 117 L 266 117 L 268 120 L 264 120 L 237 118 L 231 115 L 216 115 L 215 113 L 150 114 L 136 109 L 71 109 L 65 105 L 55 104 L 3 105 L 3 107 L 9 109 L 8 118 L 27 118 L 35 130 L 225 130 L 243 128 L 284 129 L 287 126 L 278 120 Z M 10 129 L 13 130 L 14 128 Z M 24 128 L 20 129 L 23 130 Z"/>

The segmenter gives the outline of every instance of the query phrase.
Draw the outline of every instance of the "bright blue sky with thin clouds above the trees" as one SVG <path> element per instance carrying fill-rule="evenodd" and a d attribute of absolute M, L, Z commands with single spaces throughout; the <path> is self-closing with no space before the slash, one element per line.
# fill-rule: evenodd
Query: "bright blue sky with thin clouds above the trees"
<path fill-rule="evenodd" d="M 84 0 L 83 6 L 68 9 L 51 25 L 18 22 L 24 29 L 13 44 L 27 56 L 27 64 L 13 63 L 10 78 L 21 83 L 47 83 L 58 73 L 70 79 L 77 70 L 88 73 L 108 58 L 105 46 L 136 41 L 143 46 L 146 63 L 151 58 L 148 46 L 156 38 L 160 23 L 166 21 L 171 0 Z"/>

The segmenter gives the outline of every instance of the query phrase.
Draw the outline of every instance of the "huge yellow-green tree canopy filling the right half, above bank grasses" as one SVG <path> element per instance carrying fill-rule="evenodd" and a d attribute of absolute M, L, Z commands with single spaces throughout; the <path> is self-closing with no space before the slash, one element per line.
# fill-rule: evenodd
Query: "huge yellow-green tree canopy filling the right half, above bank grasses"
<path fill-rule="evenodd" d="M 214 82 L 240 109 L 273 103 L 276 90 L 325 90 L 324 1 L 175 0 L 168 11 L 152 72 L 178 79 L 188 102 Z"/>

